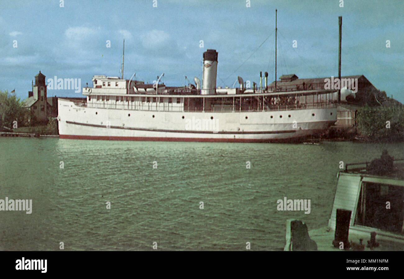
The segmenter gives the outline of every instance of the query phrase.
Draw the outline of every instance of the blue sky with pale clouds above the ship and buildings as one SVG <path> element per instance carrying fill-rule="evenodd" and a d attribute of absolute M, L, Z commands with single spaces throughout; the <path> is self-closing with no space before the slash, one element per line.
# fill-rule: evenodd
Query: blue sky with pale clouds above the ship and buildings
<path fill-rule="evenodd" d="M 363 74 L 404 102 L 404 0 L 344 0 L 343 7 L 340 0 L 60 2 L 0 0 L 0 90 L 15 88 L 25 99 L 39 71 L 46 79 L 80 78 L 82 86 L 92 85 L 93 75 L 120 76 L 123 39 L 127 79 L 136 73 L 152 82 L 164 73 L 166 85 L 185 85 L 185 75 L 201 79 L 202 54 L 213 48 L 217 86 L 233 85 L 238 75 L 258 83 L 260 71 L 271 82 L 278 9 L 278 78 L 337 76 L 342 16 L 342 75 Z M 55 95 L 81 93 L 48 90 Z"/>

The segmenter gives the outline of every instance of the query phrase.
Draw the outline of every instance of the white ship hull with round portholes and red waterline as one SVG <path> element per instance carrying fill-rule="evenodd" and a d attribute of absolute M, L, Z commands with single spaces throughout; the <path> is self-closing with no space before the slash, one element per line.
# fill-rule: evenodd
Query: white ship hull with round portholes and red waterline
<path fill-rule="evenodd" d="M 80 106 L 59 98 L 58 111 L 60 138 L 87 140 L 283 142 L 325 131 L 337 121 L 336 107 L 241 112 L 146 111 Z M 209 119 L 213 120 L 208 126 Z M 198 121 L 206 121 L 206 127 L 198 125 Z"/>

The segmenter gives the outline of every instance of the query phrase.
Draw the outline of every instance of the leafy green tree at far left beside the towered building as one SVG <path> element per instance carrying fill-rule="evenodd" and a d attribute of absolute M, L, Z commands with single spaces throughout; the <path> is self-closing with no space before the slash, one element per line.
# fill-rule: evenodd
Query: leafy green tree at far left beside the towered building
<path fill-rule="evenodd" d="M 13 127 L 13 122 L 23 126 L 27 109 L 23 102 L 14 94 L 0 90 L 0 127 Z"/>

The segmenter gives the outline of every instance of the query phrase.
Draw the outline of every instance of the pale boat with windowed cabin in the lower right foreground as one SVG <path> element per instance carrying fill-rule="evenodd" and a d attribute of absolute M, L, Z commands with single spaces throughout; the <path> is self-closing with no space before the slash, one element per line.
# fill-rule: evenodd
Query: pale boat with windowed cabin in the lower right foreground
<path fill-rule="evenodd" d="M 347 164 L 338 174 L 328 226 L 307 232 L 304 223 L 289 219 L 284 250 L 402 251 L 403 200 L 403 159 L 385 150 L 372 162 Z"/>

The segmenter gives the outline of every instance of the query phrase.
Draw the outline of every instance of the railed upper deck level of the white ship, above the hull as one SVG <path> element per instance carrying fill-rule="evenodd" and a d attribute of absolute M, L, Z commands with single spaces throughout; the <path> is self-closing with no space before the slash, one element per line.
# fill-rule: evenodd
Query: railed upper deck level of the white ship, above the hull
<path fill-rule="evenodd" d="M 185 87 L 186 88 L 186 87 Z M 98 88 L 96 88 L 98 89 Z M 123 89 L 126 90 L 126 89 Z M 168 94 L 172 90 L 171 94 Z M 127 91 L 129 92 L 129 91 Z M 306 108 L 334 108 L 336 102 L 331 90 L 305 90 L 299 92 L 242 92 L 241 94 L 200 95 L 198 90 L 165 89 L 158 94 L 113 94 L 110 90 L 84 87 L 86 106 L 92 108 L 177 111 L 177 112 L 231 112 L 271 111 Z M 236 92 L 236 91 L 234 91 Z"/>

